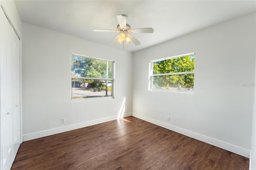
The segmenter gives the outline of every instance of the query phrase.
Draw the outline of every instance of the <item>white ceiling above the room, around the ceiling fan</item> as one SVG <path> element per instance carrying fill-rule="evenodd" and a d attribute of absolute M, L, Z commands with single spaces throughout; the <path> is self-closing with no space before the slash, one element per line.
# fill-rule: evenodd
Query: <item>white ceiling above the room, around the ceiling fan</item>
<path fill-rule="evenodd" d="M 134 52 L 179 36 L 256 12 L 255 0 L 15 0 L 22 22 L 92 42 L 109 44 L 118 33 L 116 15 L 126 14 L 132 28 L 154 28 L 153 34 L 133 34 L 141 44 L 124 45 Z"/>

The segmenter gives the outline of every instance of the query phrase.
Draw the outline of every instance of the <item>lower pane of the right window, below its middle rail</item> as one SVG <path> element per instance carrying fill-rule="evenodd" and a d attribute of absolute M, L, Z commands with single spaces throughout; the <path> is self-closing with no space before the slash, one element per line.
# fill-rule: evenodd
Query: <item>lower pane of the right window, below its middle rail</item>
<path fill-rule="evenodd" d="M 151 89 L 194 90 L 194 74 L 152 76 Z"/>

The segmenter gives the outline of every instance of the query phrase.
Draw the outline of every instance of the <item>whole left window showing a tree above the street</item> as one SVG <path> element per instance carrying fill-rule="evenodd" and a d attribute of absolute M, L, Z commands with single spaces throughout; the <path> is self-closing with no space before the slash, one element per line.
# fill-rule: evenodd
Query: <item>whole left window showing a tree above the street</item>
<path fill-rule="evenodd" d="M 113 97 L 114 61 L 72 54 L 72 99 Z"/>

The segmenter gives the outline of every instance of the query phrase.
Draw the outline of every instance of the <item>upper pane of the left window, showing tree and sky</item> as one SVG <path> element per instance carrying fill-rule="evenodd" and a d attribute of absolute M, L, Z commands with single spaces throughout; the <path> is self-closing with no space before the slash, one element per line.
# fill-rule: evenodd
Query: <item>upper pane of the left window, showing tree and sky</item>
<path fill-rule="evenodd" d="M 112 78 L 112 62 L 72 55 L 72 77 Z"/>

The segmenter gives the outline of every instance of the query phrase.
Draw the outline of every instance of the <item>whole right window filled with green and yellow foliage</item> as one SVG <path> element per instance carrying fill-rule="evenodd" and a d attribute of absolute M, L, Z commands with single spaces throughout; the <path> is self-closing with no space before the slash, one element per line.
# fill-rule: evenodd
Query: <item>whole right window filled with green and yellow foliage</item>
<path fill-rule="evenodd" d="M 150 90 L 194 91 L 194 53 L 150 61 Z"/>

